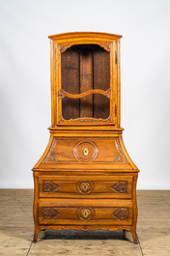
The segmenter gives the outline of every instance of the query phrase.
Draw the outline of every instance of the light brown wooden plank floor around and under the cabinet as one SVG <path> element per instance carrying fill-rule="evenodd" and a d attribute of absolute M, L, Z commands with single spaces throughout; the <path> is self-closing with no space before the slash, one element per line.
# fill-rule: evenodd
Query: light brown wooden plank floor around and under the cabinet
<path fill-rule="evenodd" d="M 137 192 L 139 244 L 122 231 L 45 231 L 32 242 L 32 189 L 0 189 L 0 255 L 170 255 L 170 191 Z"/>

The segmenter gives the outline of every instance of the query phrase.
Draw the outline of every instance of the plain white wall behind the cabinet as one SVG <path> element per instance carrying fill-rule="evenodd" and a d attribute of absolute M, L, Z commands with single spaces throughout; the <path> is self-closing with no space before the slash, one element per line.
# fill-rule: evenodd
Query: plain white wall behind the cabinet
<path fill-rule="evenodd" d="M 170 189 L 170 1 L 0 1 L 0 187 L 33 187 L 50 126 L 48 35 L 123 35 L 122 127 L 139 189 Z"/>

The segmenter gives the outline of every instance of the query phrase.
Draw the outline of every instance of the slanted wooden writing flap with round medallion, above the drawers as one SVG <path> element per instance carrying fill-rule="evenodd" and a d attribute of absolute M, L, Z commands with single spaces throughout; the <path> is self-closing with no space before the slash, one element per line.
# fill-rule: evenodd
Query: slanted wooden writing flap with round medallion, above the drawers
<path fill-rule="evenodd" d="M 83 150 L 87 148 L 89 154 L 84 156 Z M 63 154 L 65 152 L 65 154 Z M 52 156 L 56 156 L 52 158 Z M 119 157 L 118 157 L 119 156 Z M 79 162 L 110 162 L 113 164 L 119 164 L 119 166 L 124 166 L 124 169 L 131 169 L 125 155 L 122 152 L 119 140 L 117 138 L 113 139 L 79 139 L 76 138 L 54 138 L 52 147 L 48 152 L 47 156 L 42 161 L 40 167 L 45 164 L 60 164 L 60 163 L 77 163 Z M 74 166 L 75 167 L 75 166 Z"/>

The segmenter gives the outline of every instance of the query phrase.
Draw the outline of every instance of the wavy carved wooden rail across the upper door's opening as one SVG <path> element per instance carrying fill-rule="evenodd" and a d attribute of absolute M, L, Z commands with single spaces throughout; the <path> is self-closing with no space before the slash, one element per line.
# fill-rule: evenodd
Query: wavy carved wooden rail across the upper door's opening
<path fill-rule="evenodd" d="M 89 90 L 85 93 L 78 94 L 78 95 L 70 94 L 68 92 L 65 92 L 63 89 L 61 89 L 60 92 L 58 93 L 58 97 L 59 97 L 59 99 L 63 99 L 65 97 L 68 97 L 71 99 L 80 99 L 80 98 L 86 97 L 88 95 L 93 95 L 93 94 L 101 94 L 101 95 L 107 97 L 108 99 L 111 98 L 111 90 L 110 89 L 108 89 L 107 91 L 103 91 L 100 89 L 94 89 L 94 90 Z"/>

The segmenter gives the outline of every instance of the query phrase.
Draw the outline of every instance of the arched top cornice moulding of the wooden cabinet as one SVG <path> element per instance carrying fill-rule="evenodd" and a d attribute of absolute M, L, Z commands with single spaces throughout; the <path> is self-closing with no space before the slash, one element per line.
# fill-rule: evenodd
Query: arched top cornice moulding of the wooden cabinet
<path fill-rule="evenodd" d="M 52 40 L 63 40 L 63 39 L 72 39 L 72 38 L 99 38 L 99 39 L 109 39 L 109 40 L 118 40 L 122 38 L 121 35 L 115 35 L 110 33 L 103 32 L 70 32 L 51 35 L 48 38 Z"/>

